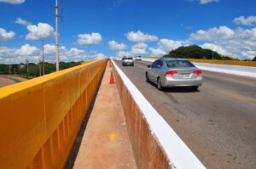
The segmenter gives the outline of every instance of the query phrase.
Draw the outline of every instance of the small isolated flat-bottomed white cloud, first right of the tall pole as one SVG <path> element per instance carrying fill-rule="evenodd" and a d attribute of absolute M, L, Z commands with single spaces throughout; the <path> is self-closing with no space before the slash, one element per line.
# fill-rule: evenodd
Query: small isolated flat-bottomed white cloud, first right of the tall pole
<path fill-rule="evenodd" d="M 78 45 L 96 45 L 102 42 L 100 33 L 79 34 L 76 44 Z"/>

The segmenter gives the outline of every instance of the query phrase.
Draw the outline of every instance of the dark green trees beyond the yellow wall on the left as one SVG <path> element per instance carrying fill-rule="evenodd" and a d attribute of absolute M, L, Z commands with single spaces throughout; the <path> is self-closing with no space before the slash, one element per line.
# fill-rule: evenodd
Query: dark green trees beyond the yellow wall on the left
<path fill-rule="evenodd" d="M 76 65 L 80 65 L 82 62 L 60 62 L 60 70 L 65 70 Z M 40 71 L 41 67 L 41 71 Z M 9 72 L 10 70 L 10 72 Z M 27 79 L 31 79 L 37 76 L 43 75 L 42 63 L 40 65 L 34 63 L 28 63 L 20 65 L 5 65 L 0 64 L 0 74 L 11 74 L 15 76 L 22 76 Z M 55 72 L 55 64 L 53 63 L 44 63 L 44 74 L 49 74 Z"/>

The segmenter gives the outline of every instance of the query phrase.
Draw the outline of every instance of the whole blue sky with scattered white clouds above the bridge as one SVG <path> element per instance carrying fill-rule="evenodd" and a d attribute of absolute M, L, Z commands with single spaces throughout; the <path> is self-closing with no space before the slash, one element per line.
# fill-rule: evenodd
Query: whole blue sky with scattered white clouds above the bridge
<path fill-rule="evenodd" d="M 0 63 L 55 61 L 55 0 L 0 0 Z M 191 44 L 256 55 L 254 0 L 59 0 L 62 61 L 161 56 Z"/>

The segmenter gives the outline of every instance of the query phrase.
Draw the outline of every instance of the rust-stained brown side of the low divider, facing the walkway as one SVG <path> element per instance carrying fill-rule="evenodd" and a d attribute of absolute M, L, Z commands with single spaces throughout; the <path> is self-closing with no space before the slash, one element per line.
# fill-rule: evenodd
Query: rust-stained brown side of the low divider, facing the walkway
<path fill-rule="evenodd" d="M 170 161 L 164 150 L 151 133 L 142 110 L 132 98 L 118 71 L 113 66 L 113 74 L 117 83 L 119 98 L 125 113 L 125 121 L 131 140 L 137 168 L 169 169 Z"/>

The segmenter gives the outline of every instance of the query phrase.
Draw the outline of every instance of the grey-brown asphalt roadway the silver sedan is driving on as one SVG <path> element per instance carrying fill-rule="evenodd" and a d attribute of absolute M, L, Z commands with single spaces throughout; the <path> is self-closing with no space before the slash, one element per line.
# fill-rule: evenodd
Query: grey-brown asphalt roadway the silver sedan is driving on
<path fill-rule="evenodd" d="M 146 99 L 207 168 L 256 168 L 256 79 L 203 71 L 203 86 L 159 91 L 146 65 L 122 66 Z"/>

